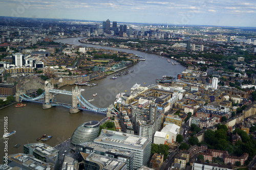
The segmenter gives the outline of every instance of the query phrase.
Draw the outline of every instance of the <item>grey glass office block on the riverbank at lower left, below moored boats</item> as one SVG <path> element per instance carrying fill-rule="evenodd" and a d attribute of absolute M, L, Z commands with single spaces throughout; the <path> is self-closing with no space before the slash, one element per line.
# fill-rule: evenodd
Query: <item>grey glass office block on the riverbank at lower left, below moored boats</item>
<path fill-rule="evenodd" d="M 29 143 L 23 146 L 24 154 L 33 155 L 36 159 L 54 164 L 58 169 L 59 151 L 45 143 Z"/>

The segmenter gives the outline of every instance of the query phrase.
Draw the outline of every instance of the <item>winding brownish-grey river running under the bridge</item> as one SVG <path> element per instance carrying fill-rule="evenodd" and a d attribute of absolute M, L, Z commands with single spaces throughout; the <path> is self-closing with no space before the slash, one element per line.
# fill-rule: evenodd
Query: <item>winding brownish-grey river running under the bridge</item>
<path fill-rule="evenodd" d="M 110 79 L 113 76 L 110 75 L 104 79 L 92 81 L 92 83 L 98 83 L 98 85 L 94 87 L 81 86 L 81 88 L 84 89 L 84 91 L 81 92 L 83 98 L 94 98 L 91 104 L 98 108 L 105 108 L 114 103 L 115 95 L 119 92 L 126 91 L 125 93 L 130 93 L 131 87 L 135 83 L 148 85 L 155 83 L 156 79 L 161 79 L 164 75 L 177 77 L 177 74 L 185 69 L 185 67 L 180 64 L 172 65 L 172 60 L 171 63 L 168 63 L 167 58 L 164 57 L 164 59 L 162 59 L 162 57 L 158 55 L 122 48 L 84 44 L 78 42 L 79 39 L 81 38 L 58 39 L 55 41 L 123 51 L 136 54 L 146 59 L 132 67 L 126 68 L 134 70 L 131 74 L 117 77 L 115 80 Z M 65 86 L 61 89 L 72 90 L 74 87 L 74 85 Z M 93 97 L 92 94 L 96 92 L 98 95 Z M 69 95 L 58 94 L 54 99 L 60 103 L 72 103 L 71 96 Z M 46 141 L 47 144 L 53 147 L 72 136 L 74 130 L 82 123 L 89 120 L 100 120 L 105 117 L 104 114 L 96 114 L 87 111 L 70 114 L 69 109 L 63 107 L 53 107 L 44 110 L 42 109 L 42 104 L 39 103 L 27 102 L 26 105 L 27 106 L 23 108 L 15 108 L 14 105 L 12 105 L 0 110 L 0 136 L 2 136 L 4 132 L 4 117 L 6 116 L 8 117 L 8 131 L 16 131 L 16 134 L 10 136 L 8 139 L 7 152 L 4 151 L 5 140 L 0 138 L 0 164 L 3 162 L 5 153 L 23 153 L 24 144 L 37 142 L 36 138 L 44 134 L 53 136 L 50 140 Z M 15 144 L 20 144 L 21 146 L 17 149 L 13 148 Z"/>

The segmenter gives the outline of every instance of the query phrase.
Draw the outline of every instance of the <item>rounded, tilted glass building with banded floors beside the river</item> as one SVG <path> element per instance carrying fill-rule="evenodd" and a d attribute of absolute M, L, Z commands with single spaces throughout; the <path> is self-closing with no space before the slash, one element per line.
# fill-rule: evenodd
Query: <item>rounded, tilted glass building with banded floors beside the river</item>
<path fill-rule="evenodd" d="M 76 145 L 83 142 L 93 141 L 99 134 L 99 126 L 100 124 L 96 120 L 83 123 L 74 131 L 71 137 L 71 143 Z"/>

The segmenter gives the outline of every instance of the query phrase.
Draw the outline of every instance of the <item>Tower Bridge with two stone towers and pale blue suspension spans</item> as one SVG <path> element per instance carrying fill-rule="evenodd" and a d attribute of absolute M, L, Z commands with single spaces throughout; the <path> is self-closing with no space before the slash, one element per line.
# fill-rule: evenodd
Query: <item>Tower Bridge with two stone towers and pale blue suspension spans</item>
<path fill-rule="evenodd" d="M 43 109 L 49 109 L 53 106 L 62 106 L 70 109 L 70 113 L 77 113 L 80 110 L 88 110 L 97 113 L 104 113 L 108 111 L 108 108 L 98 108 L 91 103 L 89 103 L 86 99 L 83 98 L 81 95 L 81 88 L 77 86 L 72 89 L 72 91 L 67 90 L 58 90 L 54 89 L 53 84 L 47 83 L 45 85 L 45 92 L 41 95 L 37 96 L 36 98 L 31 98 L 30 96 L 24 93 L 16 93 L 16 101 L 28 101 L 28 102 L 37 102 L 42 103 Z M 65 95 L 72 95 L 72 104 L 65 104 L 65 103 L 57 103 L 54 100 L 54 94 L 65 94 Z"/>

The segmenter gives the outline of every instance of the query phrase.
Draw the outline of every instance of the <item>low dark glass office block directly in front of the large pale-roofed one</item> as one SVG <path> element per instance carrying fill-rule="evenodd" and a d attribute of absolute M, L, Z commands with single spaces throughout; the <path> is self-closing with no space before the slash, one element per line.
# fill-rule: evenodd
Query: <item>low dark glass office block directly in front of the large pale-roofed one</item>
<path fill-rule="evenodd" d="M 108 156 L 116 159 L 123 160 L 127 164 L 127 169 L 133 169 L 134 165 L 134 152 L 122 149 L 113 149 L 105 145 L 93 142 L 86 142 L 80 145 L 79 148 L 82 148 L 83 153 L 86 154 L 99 154 L 103 156 Z"/>

